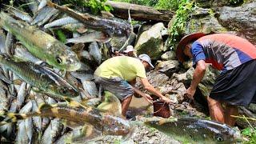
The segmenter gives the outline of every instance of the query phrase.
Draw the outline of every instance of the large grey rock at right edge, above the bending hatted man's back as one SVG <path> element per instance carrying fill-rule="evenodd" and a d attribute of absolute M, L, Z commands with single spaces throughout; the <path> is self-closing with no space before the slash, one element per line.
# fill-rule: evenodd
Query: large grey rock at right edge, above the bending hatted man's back
<path fill-rule="evenodd" d="M 239 7 L 224 6 L 219 10 L 219 22 L 230 30 L 238 31 L 256 46 L 256 2 Z"/>

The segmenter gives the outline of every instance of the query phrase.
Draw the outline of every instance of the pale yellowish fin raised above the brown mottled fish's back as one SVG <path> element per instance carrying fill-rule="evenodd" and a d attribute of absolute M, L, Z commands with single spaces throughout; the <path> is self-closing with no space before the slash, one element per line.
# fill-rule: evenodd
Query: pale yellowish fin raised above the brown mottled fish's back
<path fill-rule="evenodd" d="M 119 99 L 110 92 L 105 92 L 105 102 L 98 105 L 98 109 L 106 110 L 114 115 L 122 115 L 122 105 Z"/>

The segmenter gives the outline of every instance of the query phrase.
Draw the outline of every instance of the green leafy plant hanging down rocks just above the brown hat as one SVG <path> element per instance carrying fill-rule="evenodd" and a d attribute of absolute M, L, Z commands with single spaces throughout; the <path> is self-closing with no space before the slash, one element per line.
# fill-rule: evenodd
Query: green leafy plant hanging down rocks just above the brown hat
<path fill-rule="evenodd" d="M 190 0 L 181 0 L 178 5 L 178 10 L 174 16 L 174 22 L 170 26 L 170 38 L 169 45 L 174 46 L 174 43 L 177 42 L 179 35 L 185 30 L 186 22 L 189 20 L 190 15 L 193 11 L 194 2 Z"/>

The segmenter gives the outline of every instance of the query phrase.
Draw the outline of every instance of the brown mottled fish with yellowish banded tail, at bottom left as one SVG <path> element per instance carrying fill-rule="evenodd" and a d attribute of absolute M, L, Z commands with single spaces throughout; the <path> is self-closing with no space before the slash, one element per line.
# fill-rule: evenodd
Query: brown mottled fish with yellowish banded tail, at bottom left
<path fill-rule="evenodd" d="M 26 114 L 9 113 L 7 116 L 11 118 L 12 122 L 34 116 L 64 118 L 68 122 L 74 122 L 80 126 L 89 126 L 84 134 L 98 133 L 97 136 L 101 134 L 126 136 L 130 134 L 131 129 L 129 122 L 123 119 L 122 116 L 115 116 L 106 110 L 99 110 L 90 106 L 85 108 L 63 104 L 43 104 L 37 112 Z M 90 137 L 90 135 L 86 135 L 86 137 Z"/>

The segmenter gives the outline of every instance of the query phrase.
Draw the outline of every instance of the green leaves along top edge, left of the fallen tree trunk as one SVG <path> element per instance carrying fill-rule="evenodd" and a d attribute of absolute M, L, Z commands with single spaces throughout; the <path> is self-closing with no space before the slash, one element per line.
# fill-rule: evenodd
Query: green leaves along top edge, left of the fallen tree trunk
<path fill-rule="evenodd" d="M 107 0 L 63 0 L 62 4 L 70 3 L 74 6 L 86 6 L 90 7 L 93 14 L 98 14 L 100 11 L 110 11 L 113 8 L 109 5 L 105 5 Z"/>

